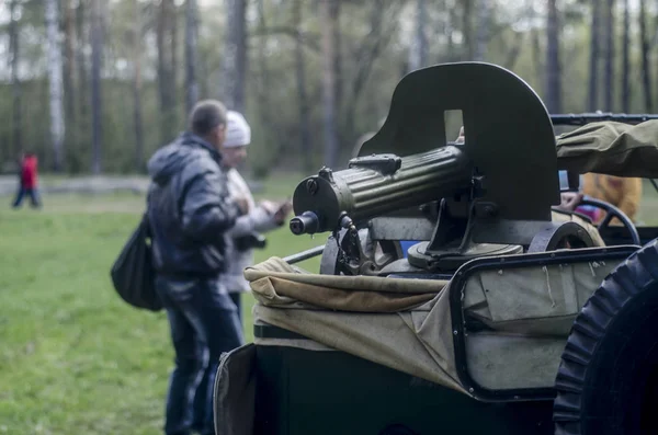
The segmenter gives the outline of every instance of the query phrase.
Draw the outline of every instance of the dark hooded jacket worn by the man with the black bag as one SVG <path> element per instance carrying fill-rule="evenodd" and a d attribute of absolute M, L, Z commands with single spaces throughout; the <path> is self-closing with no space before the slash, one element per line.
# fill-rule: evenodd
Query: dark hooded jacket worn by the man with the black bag
<path fill-rule="evenodd" d="M 155 268 L 171 277 L 213 277 L 225 272 L 224 233 L 239 215 L 228 197 L 220 154 L 190 133 L 148 162 L 148 217 Z"/>

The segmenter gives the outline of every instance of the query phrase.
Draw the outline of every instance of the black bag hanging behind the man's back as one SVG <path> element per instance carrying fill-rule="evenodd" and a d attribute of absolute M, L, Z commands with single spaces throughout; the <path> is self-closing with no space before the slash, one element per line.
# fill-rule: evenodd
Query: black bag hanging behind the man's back
<path fill-rule="evenodd" d="M 151 264 L 148 215 L 133 232 L 112 265 L 114 289 L 123 300 L 136 308 L 150 311 L 162 309 L 155 285 L 156 272 Z"/>

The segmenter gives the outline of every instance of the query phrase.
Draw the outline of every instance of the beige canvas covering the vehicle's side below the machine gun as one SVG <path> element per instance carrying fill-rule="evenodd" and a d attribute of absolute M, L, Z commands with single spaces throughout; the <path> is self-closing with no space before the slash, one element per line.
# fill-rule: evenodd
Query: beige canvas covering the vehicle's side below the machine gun
<path fill-rule="evenodd" d="M 321 307 L 314 294 L 321 293 L 325 278 L 331 283 L 328 288 L 336 288 L 343 278 L 345 283 L 350 281 L 350 285 L 359 281 L 309 274 L 299 268 L 290 272 L 288 265 L 276 271 L 281 265 L 281 260 L 276 259 L 246 272 L 249 281 L 259 282 L 252 286 L 258 299 L 253 308 L 254 321 L 296 332 L 322 346 L 468 394 L 458 380 L 454 362 L 449 298 L 451 283 L 436 293 L 426 287 L 432 282 L 405 279 L 410 294 L 418 295 L 424 290 L 426 297 L 431 295 L 431 298 L 423 304 L 415 301 L 388 312 L 373 311 L 370 304 L 363 311 L 355 305 L 350 310 L 341 310 L 336 308 L 336 304 Z M 479 272 L 470 277 L 464 295 L 465 314 L 491 328 L 486 333 L 469 334 L 467 339 L 467 359 L 473 376 L 479 376 L 478 381 L 483 385 L 496 388 L 514 388 L 525 384 L 552 387 L 559 364 L 555 354 L 564 347 L 570 323 L 615 265 L 615 262 L 583 262 L 545 268 L 508 267 L 502 273 Z M 277 279 L 269 275 L 275 275 Z M 306 284 L 310 276 L 314 277 L 313 287 Z M 390 279 L 368 278 L 372 283 L 382 282 L 379 289 L 385 288 L 384 282 Z M 263 279 L 268 282 L 266 286 Z M 282 302 L 272 296 L 286 294 L 291 283 L 299 285 L 299 293 L 307 289 L 304 301 L 286 296 L 285 302 Z M 423 290 L 416 286 L 422 286 Z M 363 291 L 360 287 L 353 287 L 353 290 Z M 262 339 L 256 339 L 256 343 L 282 344 Z M 306 348 L 303 340 L 290 345 Z M 500 370 L 487 368 L 492 366 Z M 530 378 L 524 379 L 524 376 Z"/>

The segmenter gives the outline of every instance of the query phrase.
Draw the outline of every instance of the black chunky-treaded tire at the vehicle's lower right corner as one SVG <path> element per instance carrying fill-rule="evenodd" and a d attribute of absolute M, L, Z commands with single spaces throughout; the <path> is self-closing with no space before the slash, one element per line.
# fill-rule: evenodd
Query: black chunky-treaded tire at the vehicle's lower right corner
<path fill-rule="evenodd" d="M 555 434 L 658 434 L 658 239 L 576 318 L 556 378 Z"/>

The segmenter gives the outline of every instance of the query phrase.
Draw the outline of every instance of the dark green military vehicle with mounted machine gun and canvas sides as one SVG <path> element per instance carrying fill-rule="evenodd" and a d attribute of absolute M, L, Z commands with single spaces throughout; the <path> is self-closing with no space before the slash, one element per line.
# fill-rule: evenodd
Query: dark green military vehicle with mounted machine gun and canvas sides
<path fill-rule="evenodd" d="M 294 192 L 291 231 L 326 243 L 245 271 L 217 434 L 658 433 L 658 228 L 556 209 L 560 170 L 658 175 L 651 116 L 606 116 L 552 117 L 495 65 L 406 76 L 359 157 Z"/>

